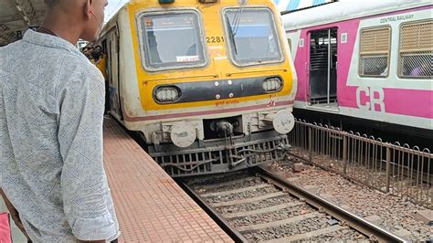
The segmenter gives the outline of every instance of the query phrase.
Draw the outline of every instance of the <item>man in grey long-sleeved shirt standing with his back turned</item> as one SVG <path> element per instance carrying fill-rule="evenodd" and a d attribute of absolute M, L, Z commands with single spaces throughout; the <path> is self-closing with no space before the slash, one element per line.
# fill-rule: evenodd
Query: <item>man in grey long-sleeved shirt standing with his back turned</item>
<path fill-rule="evenodd" d="M 38 32 L 0 48 L 0 188 L 34 242 L 116 240 L 102 163 L 104 80 L 75 44 L 107 0 L 45 0 Z"/>

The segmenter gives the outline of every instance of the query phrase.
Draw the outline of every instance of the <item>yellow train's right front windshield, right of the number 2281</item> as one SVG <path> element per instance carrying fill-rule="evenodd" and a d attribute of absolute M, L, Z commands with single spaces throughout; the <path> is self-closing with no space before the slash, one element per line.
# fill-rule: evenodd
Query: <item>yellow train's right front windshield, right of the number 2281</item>
<path fill-rule="evenodd" d="M 229 8 L 224 13 L 229 48 L 239 66 L 283 60 L 269 8 Z"/>

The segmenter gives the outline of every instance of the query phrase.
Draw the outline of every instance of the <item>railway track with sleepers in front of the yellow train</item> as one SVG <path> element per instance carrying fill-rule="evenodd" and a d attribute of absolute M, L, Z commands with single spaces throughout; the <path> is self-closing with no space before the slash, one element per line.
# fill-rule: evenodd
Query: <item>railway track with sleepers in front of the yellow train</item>
<path fill-rule="evenodd" d="M 263 167 L 181 185 L 237 242 L 406 242 Z"/>

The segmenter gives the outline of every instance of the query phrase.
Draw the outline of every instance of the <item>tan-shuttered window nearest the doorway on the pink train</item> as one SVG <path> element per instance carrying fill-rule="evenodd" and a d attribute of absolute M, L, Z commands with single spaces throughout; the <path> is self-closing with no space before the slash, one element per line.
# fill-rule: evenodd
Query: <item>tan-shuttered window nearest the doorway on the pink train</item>
<path fill-rule="evenodd" d="M 390 48 L 391 28 L 389 26 L 361 29 L 359 76 L 377 78 L 388 76 Z"/>

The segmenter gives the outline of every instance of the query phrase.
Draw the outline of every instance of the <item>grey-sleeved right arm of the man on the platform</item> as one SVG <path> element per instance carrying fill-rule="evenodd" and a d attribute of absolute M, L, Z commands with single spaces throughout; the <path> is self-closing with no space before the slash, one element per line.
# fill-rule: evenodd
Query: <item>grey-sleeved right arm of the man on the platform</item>
<path fill-rule="evenodd" d="M 102 163 L 104 92 L 96 73 L 83 75 L 58 94 L 64 210 L 72 233 L 82 241 L 104 242 L 118 234 Z"/>

